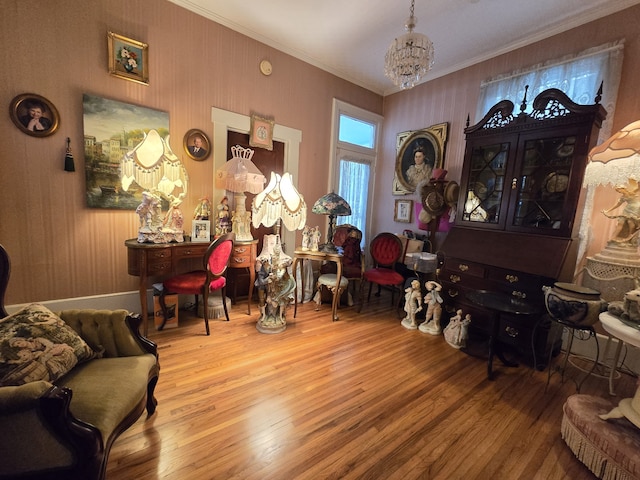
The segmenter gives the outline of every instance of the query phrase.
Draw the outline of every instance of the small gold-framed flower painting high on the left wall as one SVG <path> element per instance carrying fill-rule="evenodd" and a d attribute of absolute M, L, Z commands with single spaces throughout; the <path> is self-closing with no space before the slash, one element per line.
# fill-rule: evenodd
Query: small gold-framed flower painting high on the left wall
<path fill-rule="evenodd" d="M 149 85 L 149 45 L 113 32 L 109 32 L 107 38 L 109 73 L 115 77 Z"/>

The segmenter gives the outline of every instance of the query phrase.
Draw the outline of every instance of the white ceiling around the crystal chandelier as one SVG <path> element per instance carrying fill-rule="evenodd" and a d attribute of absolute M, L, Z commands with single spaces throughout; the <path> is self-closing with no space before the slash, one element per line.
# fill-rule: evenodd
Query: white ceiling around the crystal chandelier
<path fill-rule="evenodd" d="M 170 1 L 378 94 L 398 91 L 384 76 L 384 56 L 404 33 L 410 0 Z M 425 81 L 639 3 L 417 0 L 415 31 L 435 47 Z"/>

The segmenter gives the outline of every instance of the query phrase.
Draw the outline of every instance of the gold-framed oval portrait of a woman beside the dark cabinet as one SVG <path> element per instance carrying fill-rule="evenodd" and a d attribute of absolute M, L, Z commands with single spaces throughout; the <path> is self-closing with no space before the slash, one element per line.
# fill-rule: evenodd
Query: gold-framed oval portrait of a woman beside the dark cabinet
<path fill-rule="evenodd" d="M 443 168 L 447 126 L 441 123 L 398 134 L 394 194 L 415 192 L 420 183 L 431 180 L 434 169 Z"/>

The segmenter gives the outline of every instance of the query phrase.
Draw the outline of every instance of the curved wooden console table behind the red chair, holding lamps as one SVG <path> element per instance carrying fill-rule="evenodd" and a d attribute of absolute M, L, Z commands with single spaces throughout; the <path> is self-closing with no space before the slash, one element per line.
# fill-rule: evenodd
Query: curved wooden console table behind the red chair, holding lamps
<path fill-rule="evenodd" d="M 255 280 L 255 261 L 257 240 L 253 242 L 236 242 L 229 261 L 230 268 L 249 268 L 251 284 L 249 285 L 249 313 L 251 313 L 251 292 Z M 129 275 L 140 277 L 140 308 L 143 332 L 149 333 L 149 312 L 147 288 L 149 277 L 169 277 L 180 273 L 180 263 L 188 259 L 204 257 L 209 242 L 183 243 L 138 243 L 135 238 L 124 242 L 128 254 Z M 201 268 L 201 267 L 200 267 Z M 207 308 L 207 305 L 203 305 Z"/>

